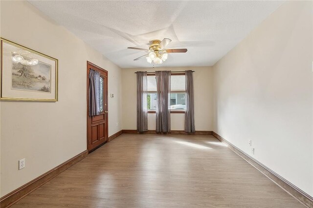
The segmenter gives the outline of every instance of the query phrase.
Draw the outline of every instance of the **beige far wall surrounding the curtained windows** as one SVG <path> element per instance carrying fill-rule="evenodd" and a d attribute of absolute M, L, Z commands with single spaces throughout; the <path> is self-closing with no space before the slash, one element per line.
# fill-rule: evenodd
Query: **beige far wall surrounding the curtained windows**
<path fill-rule="evenodd" d="M 135 71 L 194 70 L 196 130 L 213 129 L 212 67 L 126 68 L 122 69 L 123 129 L 136 129 L 136 74 Z M 148 129 L 156 129 L 156 114 L 148 114 Z M 184 114 L 171 114 L 171 129 L 184 130 Z"/>

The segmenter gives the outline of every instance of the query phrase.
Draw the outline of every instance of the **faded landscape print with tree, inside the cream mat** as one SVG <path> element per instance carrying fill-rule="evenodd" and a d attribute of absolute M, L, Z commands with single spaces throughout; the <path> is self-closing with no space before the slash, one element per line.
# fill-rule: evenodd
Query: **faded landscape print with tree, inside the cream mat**
<path fill-rule="evenodd" d="M 14 61 L 12 54 L 12 89 L 48 92 L 51 90 L 51 65 L 38 62 L 24 65 Z M 23 60 L 31 60 L 20 55 Z"/>

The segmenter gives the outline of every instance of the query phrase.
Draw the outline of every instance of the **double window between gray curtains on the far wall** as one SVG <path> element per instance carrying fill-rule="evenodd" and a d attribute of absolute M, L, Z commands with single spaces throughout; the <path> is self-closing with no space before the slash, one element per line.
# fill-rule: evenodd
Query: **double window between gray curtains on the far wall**
<path fill-rule="evenodd" d="M 148 111 L 156 110 L 156 77 L 148 76 Z M 171 95 L 170 95 L 171 111 L 185 111 L 186 109 L 186 89 L 185 75 L 171 75 Z"/>

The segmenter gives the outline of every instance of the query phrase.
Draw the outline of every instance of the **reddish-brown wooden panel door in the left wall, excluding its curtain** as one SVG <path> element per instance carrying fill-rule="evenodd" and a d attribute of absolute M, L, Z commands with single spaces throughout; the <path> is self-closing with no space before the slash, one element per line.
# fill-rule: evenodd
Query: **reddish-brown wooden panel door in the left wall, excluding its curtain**
<path fill-rule="evenodd" d="M 89 70 L 100 72 L 100 115 L 89 116 Z M 87 149 L 90 152 L 108 141 L 108 71 L 87 62 Z"/>

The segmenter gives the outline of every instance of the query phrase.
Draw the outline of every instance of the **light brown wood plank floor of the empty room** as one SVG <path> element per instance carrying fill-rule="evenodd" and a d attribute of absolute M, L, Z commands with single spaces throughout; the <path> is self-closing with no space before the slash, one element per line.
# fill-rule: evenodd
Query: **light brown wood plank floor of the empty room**
<path fill-rule="evenodd" d="M 212 135 L 122 134 L 12 207 L 304 206 Z"/>

